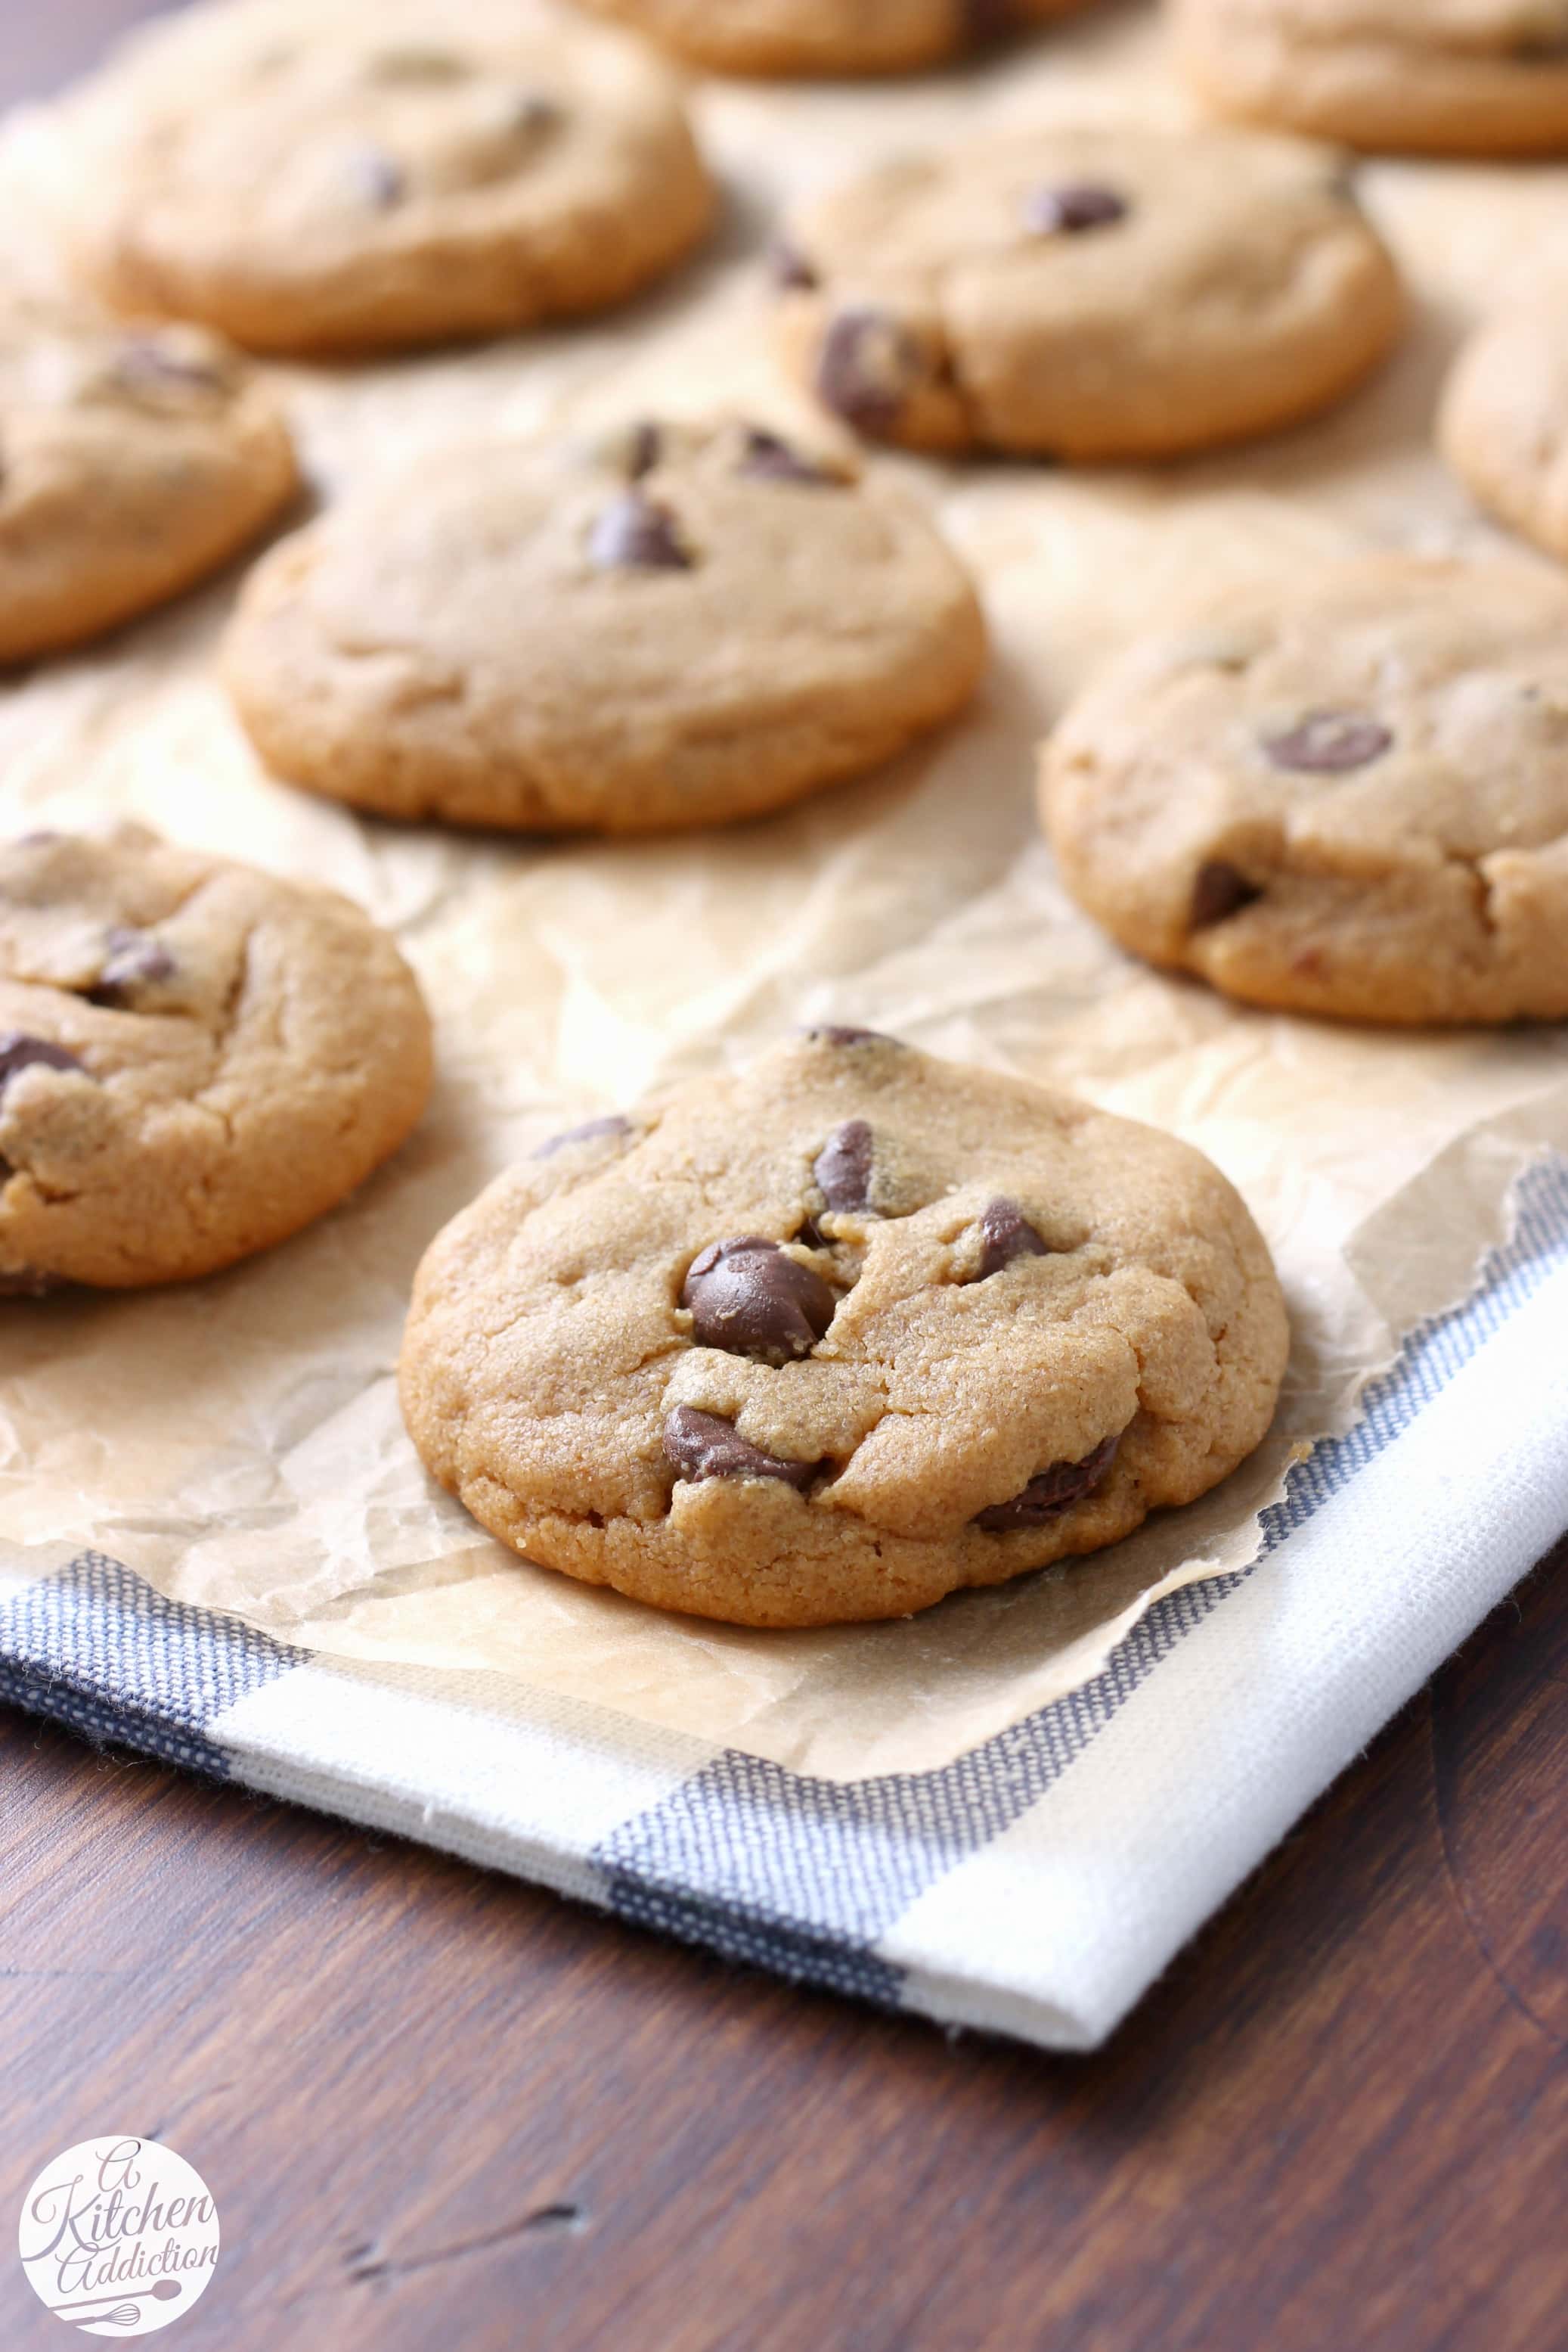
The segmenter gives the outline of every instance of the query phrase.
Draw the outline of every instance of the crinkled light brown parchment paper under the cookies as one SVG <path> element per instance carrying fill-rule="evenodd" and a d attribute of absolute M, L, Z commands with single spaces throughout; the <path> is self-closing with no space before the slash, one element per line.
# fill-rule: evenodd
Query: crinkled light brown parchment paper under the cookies
<path fill-rule="evenodd" d="M 1110 7 L 964 78 L 705 85 L 715 249 L 611 320 L 362 372 L 282 372 L 322 496 L 444 442 L 741 407 L 790 428 L 759 252 L 778 207 L 990 120 L 1182 120 L 1159 28 Z M 0 134 L 12 268 L 80 169 L 68 111 Z M 136 814 L 329 880 L 395 927 L 437 1016 L 425 1127 L 296 1242 L 190 1289 L 7 1305 L 0 1562 L 96 1545 L 186 1602 L 357 1661 L 487 1668 L 835 1778 L 924 1769 L 1088 1679 L 1150 1602 L 1255 1557 L 1293 1454 L 1458 1301 L 1509 1188 L 1568 1148 L 1554 1030 L 1382 1035 L 1227 1007 L 1138 969 L 1063 896 L 1032 746 L 1095 661 L 1194 586 L 1359 543 L 1500 546 L 1429 454 L 1469 318 L 1540 263 L 1568 169 L 1373 165 L 1418 296 L 1399 360 L 1309 430 L 1145 473 L 872 468 L 929 501 L 997 640 L 973 715 L 863 783 L 646 844 L 393 830 L 268 781 L 209 659 L 233 579 L 0 694 L 0 821 Z M 520 1564 L 425 1482 L 393 1364 L 423 1244 L 550 1129 L 722 1073 L 802 1018 L 1074 1087 L 1178 1129 L 1253 1204 L 1295 1350 L 1279 1425 L 1218 1494 L 1093 1562 L 907 1623 L 806 1635 L 665 1618 Z M 1528 1411 L 1528 1399 L 1521 1399 Z M 1368 1573 L 1378 1564 L 1368 1562 Z"/>

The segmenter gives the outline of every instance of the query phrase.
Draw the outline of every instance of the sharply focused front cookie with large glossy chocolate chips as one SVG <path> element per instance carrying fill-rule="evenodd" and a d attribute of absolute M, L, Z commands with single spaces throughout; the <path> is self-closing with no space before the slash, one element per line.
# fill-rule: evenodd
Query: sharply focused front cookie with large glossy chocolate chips
<path fill-rule="evenodd" d="M 529 1559 L 835 1625 L 1206 1494 L 1284 1359 L 1269 1254 L 1199 1152 L 820 1028 L 482 1192 L 418 1272 L 402 1399 Z"/>

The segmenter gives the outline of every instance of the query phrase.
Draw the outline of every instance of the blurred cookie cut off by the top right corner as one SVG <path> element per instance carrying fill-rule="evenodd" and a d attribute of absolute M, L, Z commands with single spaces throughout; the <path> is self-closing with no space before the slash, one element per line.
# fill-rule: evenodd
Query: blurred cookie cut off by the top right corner
<path fill-rule="evenodd" d="M 1568 0 L 1173 0 L 1227 115 L 1432 155 L 1568 148 Z"/>

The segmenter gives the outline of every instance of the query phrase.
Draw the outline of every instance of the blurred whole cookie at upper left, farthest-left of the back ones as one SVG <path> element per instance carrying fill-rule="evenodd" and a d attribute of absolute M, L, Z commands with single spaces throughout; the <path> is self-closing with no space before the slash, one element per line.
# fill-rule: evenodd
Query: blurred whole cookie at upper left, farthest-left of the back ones
<path fill-rule="evenodd" d="M 94 287 L 256 350 L 592 310 L 715 202 L 665 71 L 531 0 L 195 9 L 106 71 L 82 129 Z"/>

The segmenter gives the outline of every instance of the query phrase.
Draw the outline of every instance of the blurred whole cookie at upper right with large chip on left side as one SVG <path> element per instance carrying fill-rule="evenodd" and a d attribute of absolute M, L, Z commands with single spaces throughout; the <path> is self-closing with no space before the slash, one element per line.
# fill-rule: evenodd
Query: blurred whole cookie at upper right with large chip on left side
<path fill-rule="evenodd" d="M 860 433 L 1166 456 L 1321 409 L 1399 278 L 1319 148 L 1030 129 L 882 165 L 776 252 L 785 358 Z"/>

